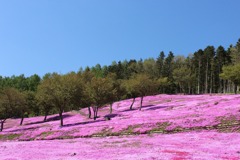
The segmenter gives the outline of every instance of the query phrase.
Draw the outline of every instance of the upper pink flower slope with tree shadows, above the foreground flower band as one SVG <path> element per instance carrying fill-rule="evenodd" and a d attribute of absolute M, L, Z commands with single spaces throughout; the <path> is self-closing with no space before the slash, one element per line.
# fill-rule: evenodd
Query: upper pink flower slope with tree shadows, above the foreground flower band
<path fill-rule="evenodd" d="M 59 127 L 58 115 L 26 118 L 19 126 L 19 119 L 6 121 L 0 136 L 4 140 L 13 135 L 17 140 L 67 139 L 78 137 L 174 133 L 191 130 L 239 131 L 239 95 L 157 95 L 144 98 L 142 111 L 129 110 L 132 100 L 116 102 L 111 120 L 105 120 L 109 107 L 100 109 L 99 118 L 88 119 L 87 109 L 64 114 L 64 126 Z M 14 138 L 16 137 L 16 138 Z"/>

